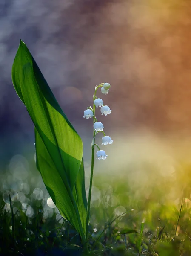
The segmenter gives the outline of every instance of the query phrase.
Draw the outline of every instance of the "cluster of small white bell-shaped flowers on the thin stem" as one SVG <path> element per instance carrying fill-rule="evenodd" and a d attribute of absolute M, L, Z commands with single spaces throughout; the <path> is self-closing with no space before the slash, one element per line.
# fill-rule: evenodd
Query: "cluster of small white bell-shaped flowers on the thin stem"
<path fill-rule="evenodd" d="M 107 94 L 108 91 L 109 91 L 109 88 L 111 87 L 110 84 L 108 83 L 105 83 L 105 84 L 100 84 L 98 87 L 101 87 L 101 92 L 103 94 Z M 97 88 L 98 87 L 95 87 L 95 94 L 96 94 L 96 91 L 97 91 Z M 86 119 L 89 119 L 91 117 L 94 118 L 94 133 L 95 135 L 98 133 L 98 132 L 103 132 L 103 123 L 101 122 L 97 122 L 97 119 L 95 117 L 95 107 L 98 108 L 100 107 L 101 109 L 101 114 L 102 115 L 105 115 L 107 116 L 108 114 L 111 114 L 111 109 L 109 108 L 109 106 L 107 105 L 103 105 L 103 100 L 100 99 L 100 98 L 97 98 L 94 94 L 94 108 L 91 108 L 91 106 L 89 106 L 85 111 L 84 111 L 84 118 Z M 95 99 L 96 98 L 96 99 Z M 105 133 L 103 132 L 104 134 L 104 137 L 102 137 L 102 145 L 108 145 L 108 144 L 112 144 L 113 143 L 113 140 L 111 140 L 111 137 L 109 136 L 105 136 Z M 94 144 L 94 145 L 97 145 L 97 144 Z M 98 146 L 97 146 L 98 147 Z M 99 147 L 98 147 L 99 148 Z M 98 160 L 105 160 L 107 158 L 107 155 L 105 153 L 104 150 L 99 150 L 97 151 L 97 159 Z"/>

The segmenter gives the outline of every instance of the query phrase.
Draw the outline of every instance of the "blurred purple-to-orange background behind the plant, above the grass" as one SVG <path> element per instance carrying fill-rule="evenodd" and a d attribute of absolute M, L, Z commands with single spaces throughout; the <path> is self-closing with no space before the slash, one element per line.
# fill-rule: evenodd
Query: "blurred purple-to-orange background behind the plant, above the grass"
<path fill-rule="evenodd" d="M 98 110 L 97 119 L 114 144 L 102 147 L 108 159 L 96 162 L 95 174 L 126 182 L 128 204 L 131 195 L 152 200 L 153 189 L 157 200 L 190 200 L 190 1 L 0 0 L 0 187 L 5 203 L 11 187 L 23 205 L 29 193 L 48 195 L 35 168 L 33 123 L 11 82 L 20 38 L 83 139 L 86 178 L 92 120 L 83 111 L 95 85 L 108 82 L 108 95 L 97 95 L 112 113 Z"/>

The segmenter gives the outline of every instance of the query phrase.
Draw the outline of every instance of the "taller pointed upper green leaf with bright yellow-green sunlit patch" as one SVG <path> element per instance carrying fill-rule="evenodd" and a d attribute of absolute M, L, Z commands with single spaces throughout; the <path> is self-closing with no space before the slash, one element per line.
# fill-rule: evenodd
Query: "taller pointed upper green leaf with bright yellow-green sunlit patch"
<path fill-rule="evenodd" d="M 82 141 L 61 110 L 23 41 L 20 41 L 14 59 L 12 81 L 54 163 L 61 172 L 64 169 L 63 178 L 68 179 L 73 189 L 82 161 Z M 55 151 L 49 150 L 47 145 L 49 141 L 46 138 L 57 146 Z M 76 161 L 73 161 L 73 158 Z"/>

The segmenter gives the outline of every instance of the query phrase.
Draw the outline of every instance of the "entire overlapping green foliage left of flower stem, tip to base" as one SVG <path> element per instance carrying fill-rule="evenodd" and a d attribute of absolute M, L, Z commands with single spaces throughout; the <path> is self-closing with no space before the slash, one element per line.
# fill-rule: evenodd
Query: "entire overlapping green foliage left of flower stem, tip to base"
<path fill-rule="evenodd" d="M 12 81 L 35 126 L 37 168 L 61 215 L 83 239 L 87 207 L 83 143 L 21 40 Z"/>

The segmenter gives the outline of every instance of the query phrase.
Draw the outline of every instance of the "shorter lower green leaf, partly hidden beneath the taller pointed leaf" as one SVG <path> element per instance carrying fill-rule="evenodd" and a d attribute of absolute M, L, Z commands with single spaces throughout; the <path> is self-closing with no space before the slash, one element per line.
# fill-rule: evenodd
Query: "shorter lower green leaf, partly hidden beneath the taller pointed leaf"
<path fill-rule="evenodd" d="M 83 169 L 83 161 L 81 162 L 81 168 L 77 175 L 77 180 L 74 185 L 73 194 L 71 195 L 71 191 L 67 190 L 66 186 L 63 184 L 63 180 L 54 165 L 54 161 L 51 159 L 48 150 L 46 149 L 43 140 L 41 139 L 37 129 L 35 128 L 35 142 L 36 142 L 36 157 L 37 157 L 37 169 L 40 171 L 40 174 L 43 178 L 43 181 L 46 185 L 48 193 L 50 194 L 54 204 L 60 211 L 60 214 L 69 221 L 80 233 L 79 221 L 83 226 L 83 230 L 85 230 L 85 220 L 84 216 L 86 216 L 86 192 L 84 181 L 84 169 Z M 54 148 L 54 145 L 52 145 Z M 75 159 L 74 159 L 75 160 Z M 81 183 L 80 183 L 81 182 Z M 80 184 L 79 184 L 80 183 Z M 81 187 L 80 187 L 80 186 Z M 78 189 L 76 189 L 76 187 Z M 79 189 L 80 187 L 80 189 Z M 85 195 L 85 197 L 84 197 Z M 73 202 L 71 202 L 73 200 Z M 78 207 L 78 206 L 81 207 Z M 76 214 L 76 209 L 78 209 L 78 214 Z"/>

